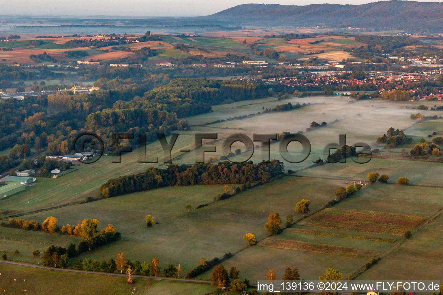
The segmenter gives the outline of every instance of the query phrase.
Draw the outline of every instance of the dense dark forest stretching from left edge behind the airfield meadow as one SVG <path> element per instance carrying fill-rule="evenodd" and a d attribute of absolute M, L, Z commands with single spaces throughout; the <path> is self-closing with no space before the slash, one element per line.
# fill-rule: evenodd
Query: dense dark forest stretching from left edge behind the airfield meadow
<path fill-rule="evenodd" d="M 122 79 L 99 79 L 96 85 L 102 89 L 88 94 L 63 92 L 2 100 L 0 149 L 20 144 L 63 155 L 73 151 L 72 140 L 81 130 L 93 130 L 101 134 L 105 152 L 112 153 L 119 149 L 111 146 L 113 132 L 146 133 L 151 142 L 157 139 L 156 132 L 186 130 L 183 118 L 209 112 L 211 105 L 268 95 L 264 84 L 190 78 L 169 80 L 164 85 L 163 79 L 147 81 L 125 84 Z"/>

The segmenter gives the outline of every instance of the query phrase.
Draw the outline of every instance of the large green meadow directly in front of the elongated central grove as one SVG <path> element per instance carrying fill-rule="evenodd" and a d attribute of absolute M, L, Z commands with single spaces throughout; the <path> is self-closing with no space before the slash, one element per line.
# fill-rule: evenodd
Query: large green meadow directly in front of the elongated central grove
<path fill-rule="evenodd" d="M 243 235 L 248 232 L 264 238 L 268 234 L 264 223 L 269 213 L 279 212 L 283 218 L 292 213 L 298 218 L 294 207 L 302 198 L 299 192 L 311 200 L 311 208 L 315 210 L 333 198 L 334 188 L 339 185 L 341 181 L 287 176 L 216 203 L 211 202 L 223 186 L 162 188 L 23 218 L 43 221 L 51 215 L 58 218 L 60 225 L 97 218 L 101 226 L 112 223 L 121 232 L 122 240 L 81 257 L 102 261 L 123 251 L 129 259 L 143 262 L 156 257 L 163 266 L 181 263 L 183 270 L 188 271 L 203 257 L 212 259 L 244 248 L 247 242 Z M 190 212 L 184 208 L 186 204 L 196 208 L 207 203 L 208 206 Z M 159 224 L 146 228 L 145 215 L 153 215 Z"/>

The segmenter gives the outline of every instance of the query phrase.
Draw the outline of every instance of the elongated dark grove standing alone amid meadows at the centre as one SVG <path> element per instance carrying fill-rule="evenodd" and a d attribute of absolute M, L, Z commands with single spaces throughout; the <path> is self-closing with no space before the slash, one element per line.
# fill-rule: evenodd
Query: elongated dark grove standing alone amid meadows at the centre
<path fill-rule="evenodd" d="M 259 164 L 223 161 L 215 165 L 169 165 L 167 169 L 148 168 L 144 173 L 110 179 L 101 185 L 100 191 L 102 197 L 109 198 L 167 186 L 263 183 L 283 172 L 284 164 L 278 160 Z"/>

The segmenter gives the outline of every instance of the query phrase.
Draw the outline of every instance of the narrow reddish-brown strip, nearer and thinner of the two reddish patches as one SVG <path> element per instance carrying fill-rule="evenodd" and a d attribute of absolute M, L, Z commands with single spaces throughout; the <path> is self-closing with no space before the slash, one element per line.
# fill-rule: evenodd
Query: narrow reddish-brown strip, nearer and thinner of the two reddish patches
<path fill-rule="evenodd" d="M 308 243 L 308 242 L 294 241 L 294 240 L 280 240 L 274 238 L 264 239 L 258 245 L 263 247 L 299 250 L 299 251 L 307 251 L 313 253 L 339 255 L 345 257 L 368 258 L 368 259 L 375 257 L 378 253 L 377 251 L 368 250 L 368 249 L 355 249 L 350 247 L 324 245 L 324 244 Z"/>

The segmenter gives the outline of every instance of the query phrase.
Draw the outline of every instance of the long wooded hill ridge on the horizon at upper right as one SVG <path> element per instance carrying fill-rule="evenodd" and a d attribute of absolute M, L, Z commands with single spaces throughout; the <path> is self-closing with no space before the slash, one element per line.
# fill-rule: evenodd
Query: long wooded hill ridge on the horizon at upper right
<path fill-rule="evenodd" d="M 242 4 L 198 19 L 241 26 L 325 26 L 374 28 L 377 31 L 441 32 L 443 3 L 379 1 L 361 5 Z"/>

